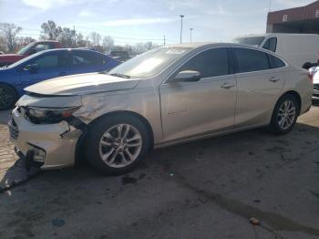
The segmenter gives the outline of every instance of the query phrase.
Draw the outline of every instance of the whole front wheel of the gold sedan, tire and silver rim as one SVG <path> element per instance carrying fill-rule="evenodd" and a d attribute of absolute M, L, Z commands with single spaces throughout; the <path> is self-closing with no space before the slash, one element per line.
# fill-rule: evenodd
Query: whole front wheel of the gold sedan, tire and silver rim
<path fill-rule="evenodd" d="M 138 166 L 149 149 L 145 125 L 130 115 L 99 119 L 88 129 L 87 161 L 98 171 L 119 175 Z"/>

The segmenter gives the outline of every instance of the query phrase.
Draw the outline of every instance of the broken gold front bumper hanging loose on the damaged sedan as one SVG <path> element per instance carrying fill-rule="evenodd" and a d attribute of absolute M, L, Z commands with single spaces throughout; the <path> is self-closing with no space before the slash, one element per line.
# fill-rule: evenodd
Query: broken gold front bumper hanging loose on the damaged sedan
<path fill-rule="evenodd" d="M 18 155 L 41 169 L 59 169 L 73 166 L 77 141 L 83 130 L 63 120 L 56 124 L 34 124 L 26 120 L 24 110 L 15 108 L 8 123 L 10 138 Z"/>

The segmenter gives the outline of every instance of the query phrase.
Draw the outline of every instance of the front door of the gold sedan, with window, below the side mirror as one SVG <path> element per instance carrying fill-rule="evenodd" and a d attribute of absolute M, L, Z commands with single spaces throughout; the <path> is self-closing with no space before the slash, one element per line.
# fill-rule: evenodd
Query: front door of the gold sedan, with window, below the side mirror
<path fill-rule="evenodd" d="M 177 140 L 231 130 L 234 126 L 236 79 L 229 50 L 210 48 L 191 57 L 183 70 L 201 73 L 197 82 L 171 82 L 160 86 L 163 140 Z"/>

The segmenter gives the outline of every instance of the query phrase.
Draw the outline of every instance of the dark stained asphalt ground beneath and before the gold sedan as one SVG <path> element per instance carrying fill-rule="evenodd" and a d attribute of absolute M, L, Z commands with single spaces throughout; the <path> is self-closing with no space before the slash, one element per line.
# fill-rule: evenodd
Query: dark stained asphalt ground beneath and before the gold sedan
<path fill-rule="evenodd" d="M 0 238 L 319 238 L 318 107 L 288 135 L 249 130 L 173 146 L 118 177 L 87 165 L 27 173 L 7 115 Z"/>

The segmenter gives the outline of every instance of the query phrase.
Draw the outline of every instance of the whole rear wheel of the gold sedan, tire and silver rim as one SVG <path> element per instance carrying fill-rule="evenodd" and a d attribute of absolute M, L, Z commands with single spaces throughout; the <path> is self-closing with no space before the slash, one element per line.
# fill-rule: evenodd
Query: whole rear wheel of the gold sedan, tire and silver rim
<path fill-rule="evenodd" d="M 299 105 L 293 95 L 284 95 L 278 100 L 273 109 L 270 130 L 274 133 L 285 134 L 293 130 L 299 114 Z"/>

